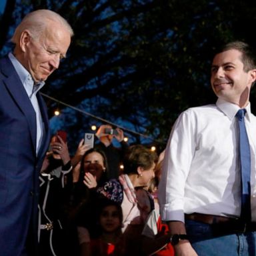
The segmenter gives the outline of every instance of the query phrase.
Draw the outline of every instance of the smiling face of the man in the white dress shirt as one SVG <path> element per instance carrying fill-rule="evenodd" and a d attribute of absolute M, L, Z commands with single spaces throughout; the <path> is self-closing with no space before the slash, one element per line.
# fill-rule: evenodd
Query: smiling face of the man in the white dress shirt
<path fill-rule="evenodd" d="M 215 55 L 211 67 L 211 87 L 217 97 L 244 107 L 249 102 L 255 70 L 244 71 L 241 52 L 235 49 Z"/>

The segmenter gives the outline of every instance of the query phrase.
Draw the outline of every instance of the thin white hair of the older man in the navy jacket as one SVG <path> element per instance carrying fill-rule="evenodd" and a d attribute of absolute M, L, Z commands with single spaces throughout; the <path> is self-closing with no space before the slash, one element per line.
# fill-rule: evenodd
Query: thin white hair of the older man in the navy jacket
<path fill-rule="evenodd" d="M 28 13 L 21 23 L 15 29 L 13 37 L 11 41 L 15 44 L 19 42 L 19 38 L 21 37 L 21 33 L 28 29 L 31 33 L 31 36 L 35 39 L 39 38 L 41 33 L 45 30 L 45 28 L 49 25 L 49 22 L 55 22 L 62 25 L 67 31 L 69 31 L 70 37 L 74 35 L 73 29 L 69 25 L 69 23 L 61 17 L 58 13 L 47 9 L 39 9 L 37 11 L 33 11 Z"/>

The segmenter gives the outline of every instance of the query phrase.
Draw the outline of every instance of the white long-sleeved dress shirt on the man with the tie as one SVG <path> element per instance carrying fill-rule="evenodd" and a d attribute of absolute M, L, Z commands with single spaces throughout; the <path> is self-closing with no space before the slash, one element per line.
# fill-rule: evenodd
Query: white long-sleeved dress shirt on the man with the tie
<path fill-rule="evenodd" d="M 251 150 L 251 208 L 256 221 L 256 117 L 245 108 Z M 184 213 L 239 217 L 241 177 L 238 160 L 239 107 L 221 99 L 216 105 L 187 109 L 171 131 L 159 184 L 161 217 L 183 221 Z"/>

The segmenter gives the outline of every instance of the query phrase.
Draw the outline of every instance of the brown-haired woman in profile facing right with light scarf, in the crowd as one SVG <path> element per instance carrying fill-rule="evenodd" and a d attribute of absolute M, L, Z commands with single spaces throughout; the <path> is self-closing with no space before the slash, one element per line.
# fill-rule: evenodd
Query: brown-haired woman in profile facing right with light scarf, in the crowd
<path fill-rule="evenodd" d="M 124 169 L 119 179 L 112 179 L 97 189 L 101 195 L 121 203 L 127 255 L 143 255 L 141 232 L 147 216 L 154 209 L 153 198 L 144 188 L 155 177 L 156 161 L 155 152 L 143 145 L 133 145 L 123 159 Z"/>

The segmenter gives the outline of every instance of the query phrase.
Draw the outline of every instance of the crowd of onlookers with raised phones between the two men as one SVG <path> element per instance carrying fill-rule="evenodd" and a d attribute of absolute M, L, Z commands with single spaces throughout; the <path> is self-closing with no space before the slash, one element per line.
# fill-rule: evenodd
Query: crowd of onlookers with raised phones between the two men
<path fill-rule="evenodd" d="M 40 173 L 39 254 L 173 255 L 167 225 L 158 229 L 153 223 L 156 215 L 160 219 L 159 157 L 143 145 L 123 142 L 119 160 L 109 161 L 101 136 L 111 141 L 115 155 L 112 140 L 121 143 L 123 131 L 108 134 L 105 129 L 109 125 L 99 127 L 94 147 L 80 141 L 73 157 L 67 142 L 52 137 Z"/>

